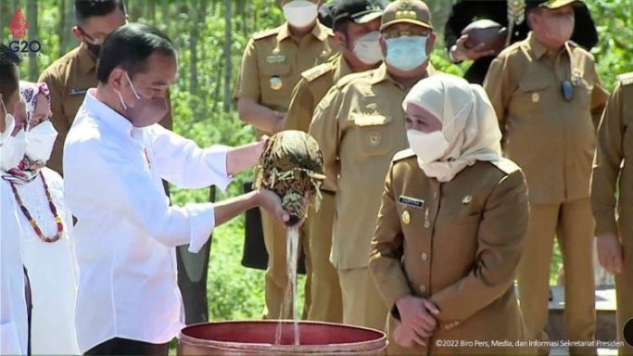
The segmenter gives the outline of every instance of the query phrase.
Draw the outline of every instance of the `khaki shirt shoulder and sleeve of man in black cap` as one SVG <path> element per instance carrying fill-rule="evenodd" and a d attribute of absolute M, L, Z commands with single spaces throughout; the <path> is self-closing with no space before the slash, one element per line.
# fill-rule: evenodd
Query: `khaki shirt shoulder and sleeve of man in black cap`
<path fill-rule="evenodd" d="M 307 132 L 316 105 L 326 96 L 327 90 L 332 88 L 336 81 L 350 73 L 352 70 L 340 54 L 331 61 L 301 73 L 301 79 L 292 91 L 284 128 Z"/>

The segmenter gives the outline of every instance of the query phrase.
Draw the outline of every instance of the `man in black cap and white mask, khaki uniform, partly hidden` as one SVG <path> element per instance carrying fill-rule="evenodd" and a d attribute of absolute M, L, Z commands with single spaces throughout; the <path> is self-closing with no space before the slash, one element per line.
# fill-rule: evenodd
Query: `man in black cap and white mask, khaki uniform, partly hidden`
<path fill-rule="evenodd" d="M 301 73 L 292 93 L 285 129 L 307 132 L 316 105 L 337 80 L 353 72 L 372 70 L 383 61 L 378 37 L 384 5 L 375 0 L 335 0 L 332 6 L 335 40 L 342 52 L 331 61 Z M 323 7 L 325 7 L 324 5 Z M 336 269 L 330 263 L 335 191 L 321 188 L 323 198 L 316 211 L 310 206 L 302 226 L 302 238 L 308 240 L 311 253 L 311 303 L 307 318 L 342 323 L 343 304 Z"/>

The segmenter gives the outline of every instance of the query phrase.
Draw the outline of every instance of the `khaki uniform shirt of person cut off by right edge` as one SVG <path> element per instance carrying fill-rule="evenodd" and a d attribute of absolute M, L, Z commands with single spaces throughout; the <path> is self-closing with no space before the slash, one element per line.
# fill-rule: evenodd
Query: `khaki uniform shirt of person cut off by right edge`
<path fill-rule="evenodd" d="M 633 73 L 619 77 L 609 98 L 600 127 L 593 167 L 591 202 L 596 235 L 618 232 L 633 238 Z M 616 183 L 619 181 L 619 198 Z M 616 208 L 617 205 L 617 208 Z M 616 209 L 618 213 L 616 213 Z M 631 243 L 631 240 L 628 240 Z"/>

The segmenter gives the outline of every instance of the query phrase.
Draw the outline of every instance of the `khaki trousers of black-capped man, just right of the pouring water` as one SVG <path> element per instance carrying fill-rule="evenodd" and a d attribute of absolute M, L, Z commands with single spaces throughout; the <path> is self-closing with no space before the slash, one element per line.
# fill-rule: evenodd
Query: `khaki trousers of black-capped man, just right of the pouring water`
<path fill-rule="evenodd" d="M 322 191 L 319 211 L 310 207 L 305 225 L 309 236 L 312 278 L 310 308 L 307 319 L 318 322 L 342 323 L 343 300 L 336 268 L 330 262 L 332 230 L 336 210 L 334 193 Z"/>

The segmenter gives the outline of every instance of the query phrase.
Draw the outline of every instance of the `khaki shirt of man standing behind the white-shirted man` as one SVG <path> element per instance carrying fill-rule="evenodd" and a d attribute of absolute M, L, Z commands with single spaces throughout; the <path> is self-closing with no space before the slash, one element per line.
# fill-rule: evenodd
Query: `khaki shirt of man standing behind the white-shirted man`
<path fill-rule="evenodd" d="M 51 90 L 51 121 L 59 133 L 47 165 L 57 173 L 63 174 L 61 168 L 63 144 L 71 129 L 72 121 L 77 115 L 77 110 L 83 103 L 86 91 L 96 88 L 99 84 L 97 62 L 82 43 L 59 60 L 54 61 L 43 71 L 38 81 L 45 82 Z M 171 129 L 172 117 L 168 96 L 167 107 L 169 111 L 160 124 Z"/>

